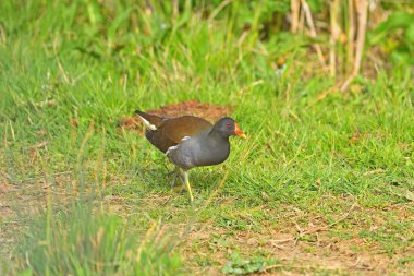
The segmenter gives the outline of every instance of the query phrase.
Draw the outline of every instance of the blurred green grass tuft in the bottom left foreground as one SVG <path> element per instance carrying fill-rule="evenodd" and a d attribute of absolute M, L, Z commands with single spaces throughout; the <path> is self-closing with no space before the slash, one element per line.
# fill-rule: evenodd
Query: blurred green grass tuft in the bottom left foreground
<path fill-rule="evenodd" d="M 53 212 L 53 213 L 51 213 Z M 155 233 L 145 239 L 114 215 L 87 204 L 50 211 L 19 240 L 20 267 L 28 275 L 180 275 L 173 242 Z"/>

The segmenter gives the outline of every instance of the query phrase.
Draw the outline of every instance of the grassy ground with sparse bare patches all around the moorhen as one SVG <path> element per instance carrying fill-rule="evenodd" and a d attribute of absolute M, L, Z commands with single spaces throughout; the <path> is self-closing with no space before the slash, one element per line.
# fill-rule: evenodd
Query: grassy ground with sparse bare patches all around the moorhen
<path fill-rule="evenodd" d="M 412 68 L 379 68 L 319 100 L 334 80 L 303 37 L 244 33 L 236 3 L 209 20 L 188 4 L 179 15 L 154 9 L 1 1 L 0 184 L 10 192 L 0 194 L 0 232 L 10 239 L 0 243 L 17 260 L 1 268 L 142 275 L 148 262 L 147 275 L 176 275 L 181 259 L 187 274 L 410 272 Z M 232 140 L 224 165 L 191 172 L 193 206 L 170 191 L 166 158 L 120 127 L 136 108 L 191 98 L 235 105 L 248 135 Z M 172 227 L 158 233 L 176 244 L 136 259 L 133 244 L 150 243 L 154 225 Z"/>

